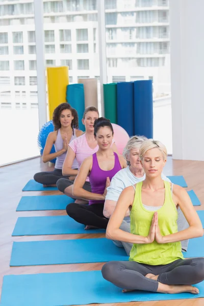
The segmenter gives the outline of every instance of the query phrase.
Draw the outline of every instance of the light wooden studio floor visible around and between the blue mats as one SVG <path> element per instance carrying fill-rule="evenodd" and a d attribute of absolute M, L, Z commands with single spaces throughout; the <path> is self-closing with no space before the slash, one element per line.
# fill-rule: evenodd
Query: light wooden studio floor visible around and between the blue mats
<path fill-rule="evenodd" d="M 13 241 L 34 241 L 34 240 L 59 240 L 104 237 L 104 234 L 88 235 L 46 235 L 30 237 L 11 237 L 14 225 L 18 217 L 23 216 L 54 216 L 66 215 L 65 211 L 36 211 L 16 212 L 16 207 L 22 195 L 47 195 L 60 194 L 60 191 L 29 191 L 22 192 L 23 186 L 33 178 L 36 172 L 48 168 L 42 164 L 40 158 L 20 162 L 0 168 L 0 288 L 2 288 L 3 275 L 8 274 L 33 274 L 52 273 L 69 271 L 100 270 L 104 263 L 93 264 L 71 264 L 71 265 L 50 265 L 50 266 L 28 266 L 9 267 Z M 201 201 L 198 210 L 204 210 L 204 162 L 178 161 L 169 157 L 164 171 L 165 175 L 184 175 L 188 184 L 187 190 L 193 189 Z M 93 305 L 93 304 L 92 304 Z M 103 304 L 105 305 L 105 304 Z M 136 306 L 203 306 L 204 298 L 152 302 L 117 303 L 107 305 L 136 305 Z M 37 306 L 37 305 L 36 305 Z"/>

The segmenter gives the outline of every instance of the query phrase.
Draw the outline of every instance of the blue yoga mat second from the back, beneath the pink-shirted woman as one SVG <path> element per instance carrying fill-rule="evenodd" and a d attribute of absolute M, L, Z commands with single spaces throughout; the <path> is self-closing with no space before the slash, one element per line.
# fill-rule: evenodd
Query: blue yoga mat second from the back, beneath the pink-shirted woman
<path fill-rule="evenodd" d="M 22 196 L 16 211 L 64 210 L 72 202 L 74 200 L 67 195 Z"/>

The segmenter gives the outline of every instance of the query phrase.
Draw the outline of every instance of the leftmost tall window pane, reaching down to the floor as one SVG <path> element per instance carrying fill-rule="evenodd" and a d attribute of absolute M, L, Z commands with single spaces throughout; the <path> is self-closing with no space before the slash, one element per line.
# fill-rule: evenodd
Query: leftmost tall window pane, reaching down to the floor
<path fill-rule="evenodd" d="M 0 165 L 39 155 L 37 74 L 29 69 L 29 61 L 36 60 L 34 50 L 33 0 L 1 1 L 0 130 L 7 126 L 1 134 L 7 149 L 1 151 Z"/>

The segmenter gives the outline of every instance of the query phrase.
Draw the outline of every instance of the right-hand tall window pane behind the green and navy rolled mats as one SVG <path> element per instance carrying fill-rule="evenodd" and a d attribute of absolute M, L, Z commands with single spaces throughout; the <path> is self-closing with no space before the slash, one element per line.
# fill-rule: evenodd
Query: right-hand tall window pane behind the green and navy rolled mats
<path fill-rule="evenodd" d="M 105 0 L 105 5 L 108 83 L 152 80 L 154 138 L 164 140 L 171 154 L 169 1 Z M 93 47 L 97 50 L 97 42 Z"/>

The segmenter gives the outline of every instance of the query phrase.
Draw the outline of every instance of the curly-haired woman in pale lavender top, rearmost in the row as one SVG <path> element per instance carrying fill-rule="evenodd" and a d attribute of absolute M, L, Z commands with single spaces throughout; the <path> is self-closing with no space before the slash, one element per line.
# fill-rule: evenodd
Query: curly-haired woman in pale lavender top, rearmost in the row
<path fill-rule="evenodd" d="M 34 180 L 43 184 L 44 187 L 56 186 L 57 181 L 61 177 L 68 179 L 67 176 L 62 175 L 62 166 L 66 157 L 68 144 L 83 133 L 78 130 L 78 113 L 68 103 L 62 103 L 56 107 L 53 113 L 53 124 L 55 131 L 50 132 L 47 136 L 42 161 L 46 163 L 56 158 L 55 169 L 54 171 L 38 172 L 34 175 Z M 53 145 L 55 146 L 56 152 L 50 154 Z M 78 168 L 77 161 L 74 161 L 72 166 L 74 169 Z"/>

